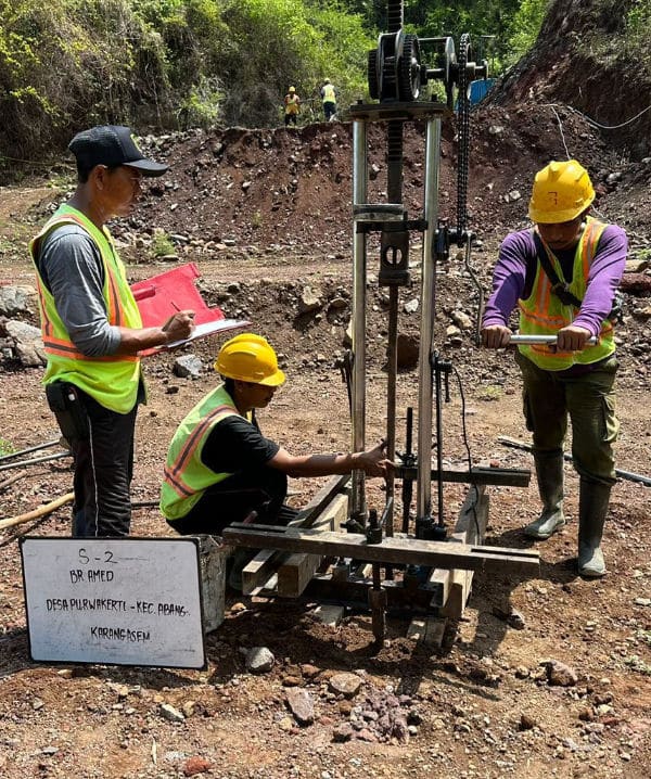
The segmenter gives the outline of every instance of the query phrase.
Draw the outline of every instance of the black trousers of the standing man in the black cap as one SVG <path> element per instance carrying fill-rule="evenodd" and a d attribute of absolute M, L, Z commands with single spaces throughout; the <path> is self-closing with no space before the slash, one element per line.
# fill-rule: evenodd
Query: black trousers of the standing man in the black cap
<path fill-rule="evenodd" d="M 138 405 L 117 413 L 77 390 L 88 437 L 71 437 L 75 467 L 73 536 L 126 536 L 131 522 L 133 431 Z"/>

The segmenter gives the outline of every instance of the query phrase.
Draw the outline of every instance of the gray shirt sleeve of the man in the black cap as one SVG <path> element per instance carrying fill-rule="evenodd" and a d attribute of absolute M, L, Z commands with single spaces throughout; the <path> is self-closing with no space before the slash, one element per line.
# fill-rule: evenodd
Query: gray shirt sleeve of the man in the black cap
<path fill-rule="evenodd" d="M 90 235 L 77 225 L 58 227 L 43 239 L 37 263 L 79 352 L 88 357 L 115 354 L 122 337 L 108 323 L 102 295 L 104 265 Z"/>

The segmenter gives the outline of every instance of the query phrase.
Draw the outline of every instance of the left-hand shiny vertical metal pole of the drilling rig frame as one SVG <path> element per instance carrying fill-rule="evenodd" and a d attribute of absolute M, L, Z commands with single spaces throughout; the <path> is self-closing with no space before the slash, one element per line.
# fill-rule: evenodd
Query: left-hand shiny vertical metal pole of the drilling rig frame
<path fill-rule="evenodd" d="M 353 206 L 367 202 L 367 125 L 353 123 Z M 353 451 L 366 449 L 366 233 L 353 220 Z M 352 477 L 350 518 L 366 524 L 363 472 Z"/>

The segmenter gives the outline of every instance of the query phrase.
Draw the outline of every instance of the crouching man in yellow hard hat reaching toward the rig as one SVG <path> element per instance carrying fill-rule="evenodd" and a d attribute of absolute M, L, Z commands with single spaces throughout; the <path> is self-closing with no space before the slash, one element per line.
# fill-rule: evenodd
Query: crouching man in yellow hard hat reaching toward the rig
<path fill-rule="evenodd" d="M 255 410 L 266 408 L 285 375 L 276 352 L 254 333 L 224 344 L 215 370 L 222 383 L 203 397 L 169 445 L 161 511 L 181 535 L 219 535 L 252 512 L 264 524 L 286 524 L 288 476 L 329 476 L 361 470 L 385 476 L 393 463 L 384 445 L 348 455 L 291 455 L 259 430 Z"/>

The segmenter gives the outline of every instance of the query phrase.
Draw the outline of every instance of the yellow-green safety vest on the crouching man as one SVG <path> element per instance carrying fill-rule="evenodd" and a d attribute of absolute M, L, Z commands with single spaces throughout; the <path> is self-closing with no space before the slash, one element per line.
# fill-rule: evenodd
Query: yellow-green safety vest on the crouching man
<path fill-rule="evenodd" d="M 186 516 L 203 493 L 231 473 L 216 473 L 201 459 L 213 427 L 232 414 L 240 416 L 224 385 L 202 398 L 178 426 L 167 452 L 161 485 L 161 512 L 168 520 Z"/>

